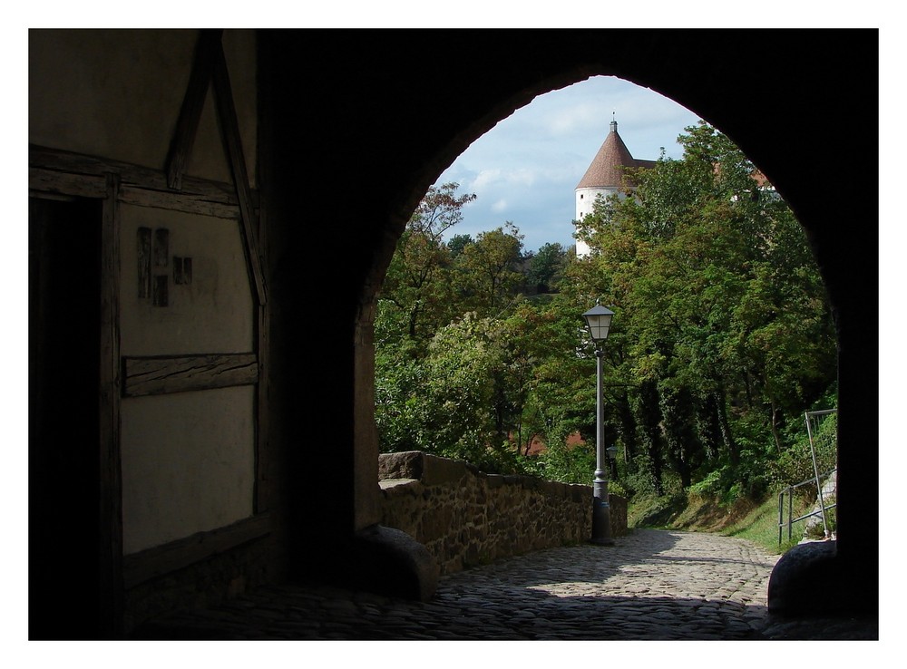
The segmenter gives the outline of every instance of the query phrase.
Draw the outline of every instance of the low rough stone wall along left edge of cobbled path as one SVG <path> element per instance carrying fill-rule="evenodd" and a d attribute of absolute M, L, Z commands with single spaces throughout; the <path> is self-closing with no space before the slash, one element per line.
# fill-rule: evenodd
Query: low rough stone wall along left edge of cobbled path
<path fill-rule="evenodd" d="M 591 536 L 591 485 L 485 474 L 420 451 L 382 454 L 378 474 L 382 525 L 423 544 L 442 574 Z M 627 503 L 615 495 L 609 502 L 619 537 L 627 531 Z"/>

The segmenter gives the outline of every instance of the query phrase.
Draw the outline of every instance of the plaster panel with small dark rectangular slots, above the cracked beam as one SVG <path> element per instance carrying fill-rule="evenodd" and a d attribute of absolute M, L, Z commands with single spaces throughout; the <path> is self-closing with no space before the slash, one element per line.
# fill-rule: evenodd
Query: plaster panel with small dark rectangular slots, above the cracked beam
<path fill-rule="evenodd" d="M 121 205 L 120 330 L 122 355 L 248 353 L 254 305 L 239 221 Z M 169 305 L 139 298 L 140 227 L 170 230 L 170 262 L 152 267 L 169 278 Z M 192 283 L 173 282 L 173 257 L 192 258 Z"/>

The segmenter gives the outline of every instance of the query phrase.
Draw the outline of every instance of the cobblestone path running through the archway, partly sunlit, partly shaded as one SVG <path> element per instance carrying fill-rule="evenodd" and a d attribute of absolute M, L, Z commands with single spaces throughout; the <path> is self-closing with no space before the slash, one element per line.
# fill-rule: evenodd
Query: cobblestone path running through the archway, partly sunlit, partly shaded
<path fill-rule="evenodd" d="M 610 547 L 553 548 L 442 577 L 427 603 L 264 587 L 225 606 L 159 618 L 141 638 L 764 639 L 777 560 L 742 539 L 637 529 Z M 775 629 L 775 638 L 790 637 Z"/>

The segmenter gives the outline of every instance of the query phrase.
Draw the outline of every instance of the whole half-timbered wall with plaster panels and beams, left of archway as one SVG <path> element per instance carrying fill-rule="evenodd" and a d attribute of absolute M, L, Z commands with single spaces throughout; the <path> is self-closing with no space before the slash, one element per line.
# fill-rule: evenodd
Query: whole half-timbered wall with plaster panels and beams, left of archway
<path fill-rule="evenodd" d="M 257 509 L 255 38 L 210 34 L 29 34 L 31 195 L 108 203 L 104 499 L 122 556 Z"/>

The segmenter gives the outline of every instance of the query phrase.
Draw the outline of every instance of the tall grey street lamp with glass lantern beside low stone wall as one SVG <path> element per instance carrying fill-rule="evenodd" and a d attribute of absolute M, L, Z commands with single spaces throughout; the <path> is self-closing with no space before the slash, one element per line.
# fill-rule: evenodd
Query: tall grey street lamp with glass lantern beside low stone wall
<path fill-rule="evenodd" d="M 614 312 L 596 302 L 589 311 L 582 315 L 586 319 L 586 328 L 595 343 L 596 383 L 595 383 L 595 479 L 592 481 L 592 538 L 593 544 L 610 546 L 611 512 L 608 503 L 608 471 L 605 469 L 605 425 L 604 401 L 602 400 L 601 382 L 601 344 L 608 338 L 611 317 Z"/>

